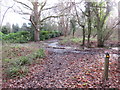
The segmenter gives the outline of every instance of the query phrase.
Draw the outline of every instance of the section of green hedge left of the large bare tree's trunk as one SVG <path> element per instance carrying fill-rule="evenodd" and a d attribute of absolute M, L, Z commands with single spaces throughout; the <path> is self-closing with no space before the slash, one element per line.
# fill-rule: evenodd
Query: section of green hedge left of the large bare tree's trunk
<path fill-rule="evenodd" d="M 9 33 L 5 35 L 3 39 L 13 43 L 26 43 L 31 39 L 31 35 L 28 31 L 20 31 L 17 33 Z"/>

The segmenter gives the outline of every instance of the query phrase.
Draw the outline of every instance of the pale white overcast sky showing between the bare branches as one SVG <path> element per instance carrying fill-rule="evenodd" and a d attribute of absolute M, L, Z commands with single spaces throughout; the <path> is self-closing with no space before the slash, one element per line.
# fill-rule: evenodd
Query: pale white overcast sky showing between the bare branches
<path fill-rule="evenodd" d="M 20 0 L 20 1 L 27 3 L 28 0 Z M 79 1 L 79 0 L 76 0 L 76 1 Z M 118 2 L 120 0 L 115 0 L 115 1 Z M 57 2 L 58 2 L 58 0 L 47 0 L 47 3 L 52 4 L 52 5 L 54 5 L 54 3 L 57 3 Z M 6 6 L 12 6 L 14 4 L 14 2 L 13 2 L 13 0 L 2 0 L 1 4 L 2 5 L 0 5 L 0 6 L 1 6 L 1 18 L 2 18 L 3 13 L 7 9 Z M 117 12 L 117 9 L 116 9 L 115 12 Z M 9 9 L 7 14 L 5 15 L 3 25 L 5 25 L 7 22 L 9 22 L 11 25 L 18 23 L 19 26 L 22 26 L 23 23 L 28 23 L 29 22 L 28 20 L 25 20 L 22 17 L 23 17 L 22 15 L 19 15 L 19 14 L 15 13 L 12 9 Z"/>

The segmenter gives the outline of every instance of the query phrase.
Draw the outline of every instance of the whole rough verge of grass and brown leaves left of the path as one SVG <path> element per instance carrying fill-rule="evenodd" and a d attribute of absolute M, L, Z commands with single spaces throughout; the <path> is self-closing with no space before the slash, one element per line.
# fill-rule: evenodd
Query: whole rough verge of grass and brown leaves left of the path
<path fill-rule="evenodd" d="M 25 47 L 4 47 L 3 51 L 3 72 L 4 78 L 23 77 L 28 73 L 29 65 L 38 62 L 39 58 L 45 57 L 42 48 L 37 51 Z"/>

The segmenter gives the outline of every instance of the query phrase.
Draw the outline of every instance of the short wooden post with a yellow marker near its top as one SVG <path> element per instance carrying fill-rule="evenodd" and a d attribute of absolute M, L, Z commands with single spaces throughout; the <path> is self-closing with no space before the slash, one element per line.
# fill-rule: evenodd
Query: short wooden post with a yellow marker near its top
<path fill-rule="evenodd" d="M 106 53 L 105 63 L 104 63 L 104 74 L 103 74 L 103 80 L 108 80 L 109 58 L 110 58 L 109 53 Z"/>

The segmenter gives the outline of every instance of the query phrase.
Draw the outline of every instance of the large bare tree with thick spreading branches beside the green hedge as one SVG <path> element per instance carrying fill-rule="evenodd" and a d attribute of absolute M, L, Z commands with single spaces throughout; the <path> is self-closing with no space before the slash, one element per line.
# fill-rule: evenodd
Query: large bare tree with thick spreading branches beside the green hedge
<path fill-rule="evenodd" d="M 34 40 L 35 41 L 39 41 L 40 38 L 39 38 L 39 31 L 40 31 L 40 28 L 41 28 L 41 24 L 42 22 L 44 22 L 46 19 L 49 19 L 49 18 L 58 18 L 62 15 L 49 15 L 47 17 L 44 17 L 42 18 L 42 13 L 44 10 L 50 10 L 50 9 L 53 9 L 55 8 L 56 6 L 54 7 L 49 7 L 49 8 L 45 8 L 46 6 L 46 3 L 47 3 L 47 0 L 45 0 L 44 2 L 38 2 L 38 0 L 34 0 L 34 2 L 32 1 L 29 1 L 31 3 L 31 7 L 23 2 L 20 2 L 20 1 L 17 1 L 17 0 L 14 0 L 15 2 L 21 4 L 24 6 L 24 8 L 28 9 L 31 11 L 31 13 L 26 13 L 25 11 L 22 11 L 21 8 L 19 8 L 21 11 L 19 12 L 20 14 L 27 14 L 30 16 L 30 22 L 32 23 L 33 27 L 34 27 Z"/>

